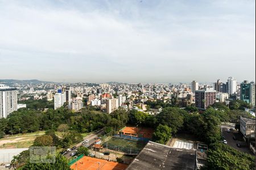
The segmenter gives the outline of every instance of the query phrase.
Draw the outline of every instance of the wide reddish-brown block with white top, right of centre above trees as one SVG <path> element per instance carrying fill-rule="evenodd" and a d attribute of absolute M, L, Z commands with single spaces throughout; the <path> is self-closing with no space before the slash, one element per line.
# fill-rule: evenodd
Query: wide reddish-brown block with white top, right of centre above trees
<path fill-rule="evenodd" d="M 195 92 L 196 107 L 205 110 L 216 102 L 216 91 L 213 88 L 204 88 L 204 90 L 197 90 Z"/>

